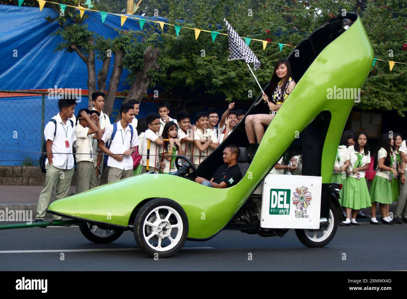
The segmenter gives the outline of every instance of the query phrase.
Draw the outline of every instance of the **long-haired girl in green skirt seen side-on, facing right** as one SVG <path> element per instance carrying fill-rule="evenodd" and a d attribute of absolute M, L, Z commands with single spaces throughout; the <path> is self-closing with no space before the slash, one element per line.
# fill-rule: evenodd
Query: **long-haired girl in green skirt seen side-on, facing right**
<path fill-rule="evenodd" d="M 393 137 L 389 134 L 383 134 L 379 145 L 377 146 L 376 153 L 374 154 L 374 164 L 376 166 L 376 175 L 370 186 L 370 198 L 372 200 L 372 207 L 370 212 L 372 218 L 371 224 L 379 224 L 376 219 L 376 203 L 380 203 L 380 211 L 382 213 L 381 223 L 392 225 L 389 217 L 389 205 L 392 203 L 392 186 L 390 180 L 392 175 L 397 176 L 396 169 L 392 164 L 392 146 L 394 145 Z"/>

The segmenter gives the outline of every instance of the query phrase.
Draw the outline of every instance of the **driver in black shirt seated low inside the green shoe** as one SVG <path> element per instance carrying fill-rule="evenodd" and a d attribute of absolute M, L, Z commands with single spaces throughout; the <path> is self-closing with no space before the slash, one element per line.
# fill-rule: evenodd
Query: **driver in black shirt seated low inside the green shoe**
<path fill-rule="evenodd" d="M 203 177 L 197 177 L 195 181 L 201 185 L 214 188 L 228 188 L 236 185 L 242 178 L 242 173 L 237 165 L 240 149 L 237 145 L 230 144 L 223 150 L 223 162 L 219 166 L 212 179 L 208 181 Z"/>

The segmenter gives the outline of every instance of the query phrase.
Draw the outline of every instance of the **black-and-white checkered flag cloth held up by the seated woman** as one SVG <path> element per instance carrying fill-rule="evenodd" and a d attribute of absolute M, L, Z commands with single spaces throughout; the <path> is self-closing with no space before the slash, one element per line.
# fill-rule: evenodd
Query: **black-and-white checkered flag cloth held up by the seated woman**
<path fill-rule="evenodd" d="M 253 51 L 246 45 L 246 43 L 239 37 L 239 35 L 234 31 L 233 27 L 230 26 L 228 21 L 225 18 L 223 20 L 226 23 L 226 28 L 228 29 L 228 37 L 229 37 L 229 61 L 236 60 L 236 59 L 244 59 L 246 63 L 253 62 L 254 63 L 254 70 L 256 71 L 260 68 L 260 61 L 258 61 L 256 55 L 254 55 Z"/>

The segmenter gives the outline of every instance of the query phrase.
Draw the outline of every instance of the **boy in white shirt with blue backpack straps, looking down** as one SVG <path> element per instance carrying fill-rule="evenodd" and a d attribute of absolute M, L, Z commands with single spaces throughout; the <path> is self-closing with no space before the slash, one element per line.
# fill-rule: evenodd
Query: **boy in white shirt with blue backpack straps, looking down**
<path fill-rule="evenodd" d="M 133 105 L 129 103 L 122 105 L 120 115 L 120 121 L 109 125 L 105 133 L 103 133 L 101 141 L 99 141 L 99 148 L 103 153 L 110 154 L 107 159 L 107 166 L 109 167 L 108 183 L 133 175 L 131 154 L 136 151 L 136 146 L 139 144 L 137 131 L 130 124 L 134 117 Z M 117 131 L 114 134 L 115 127 Z M 107 148 L 105 143 L 109 140 L 112 140 L 112 143 Z"/>

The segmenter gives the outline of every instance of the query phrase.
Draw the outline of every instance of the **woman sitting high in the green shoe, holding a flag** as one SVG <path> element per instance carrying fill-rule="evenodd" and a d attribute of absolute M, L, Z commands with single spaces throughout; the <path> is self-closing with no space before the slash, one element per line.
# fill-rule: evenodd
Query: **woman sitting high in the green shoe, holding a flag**
<path fill-rule="evenodd" d="M 245 120 L 247 139 L 249 140 L 248 156 L 254 157 L 258 144 L 264 135 L 264 126 L 268 126 L 276 115 L 278 109 L 287 100 L 289 94 L 295 87 L 295 81 L 291 79 L 291 66 L 287 59 L 280 59 L 274 67 L 273 75 L 270 80 L 269 94 L 263 94 L 264 103 L 268 106 L 269 114 L 252 114 L 248 115 Z M 256 143 L 257 140 L 257 143 Z"/>

